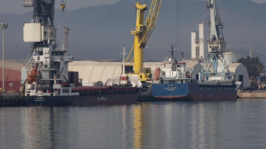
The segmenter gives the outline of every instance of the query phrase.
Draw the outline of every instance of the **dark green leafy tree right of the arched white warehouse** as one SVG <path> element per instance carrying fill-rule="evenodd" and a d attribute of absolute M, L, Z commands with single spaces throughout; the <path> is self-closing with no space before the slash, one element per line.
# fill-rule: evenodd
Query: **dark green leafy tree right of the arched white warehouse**
<path fill-rule="evenodd" d="M 253 57 L 252 59 L 247 56 L 247 58 L 241 57 L 237 60 L 238 63 L 242 63 L 248 70 L 248 76 L 259 76 L 260 72 L 258 71 L 258 64 L 263 65 L 259 59 L 259 57 Z M 262 71 L 264 66 L 261 67 Z M 262 72 L 261 71 L 261 72 Z"/>

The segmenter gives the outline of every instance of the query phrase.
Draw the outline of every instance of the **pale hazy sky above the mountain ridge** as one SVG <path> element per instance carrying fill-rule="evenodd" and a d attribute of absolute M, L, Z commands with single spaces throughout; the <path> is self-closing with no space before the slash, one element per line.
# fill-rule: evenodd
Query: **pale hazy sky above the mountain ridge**
<path fill-rule="evenodd" d="M 119 0 L 66 0 L 66 9 L 75 10 L 88 6 L 95 6 L 101 4 L 113 4 Z M 266 2 L 266 0 L 252 0 L 257 3 Z M 56 0 L 55 8 L 60 8 L 60 0 Z M 32 8 L 24 8 L 22 0 L 0 0 L 0 14 L 21 14 L 32 10 Z"/>

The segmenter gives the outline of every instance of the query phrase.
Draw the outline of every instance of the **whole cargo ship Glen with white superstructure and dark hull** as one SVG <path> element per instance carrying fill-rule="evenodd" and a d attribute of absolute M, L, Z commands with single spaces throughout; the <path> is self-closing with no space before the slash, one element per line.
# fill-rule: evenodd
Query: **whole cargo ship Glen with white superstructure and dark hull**
<path fill-rule="evenodd" d="M 66 55 L 64 48 L 38 47 L 36 50 L 38 54 L 33 56 L 28 69 L 30 73 L 25 79 L 27 106 L 132 104 L 141 94 L 140 79 L 126 76 L 125 69 L 105 84 L 97 82 L 95 86 L 80 86 L 82 83 L 73 82 L 75 73 L 69 76 L 68 63 L 73 58 Z M 125 63 L 122 64 L 124 68 Z"/>

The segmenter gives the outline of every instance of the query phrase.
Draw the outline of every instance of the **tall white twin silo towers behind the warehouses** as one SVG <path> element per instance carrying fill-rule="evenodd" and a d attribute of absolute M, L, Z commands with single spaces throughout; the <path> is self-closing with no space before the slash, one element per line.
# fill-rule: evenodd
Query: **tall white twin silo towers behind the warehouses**
<path fill-rule="evenodd" d="M 204 21 L 198 23 L 198 31 L 191 32 L 191 58 L 199 60 L 201 57 L 205 60 L 204 50 Z"/>

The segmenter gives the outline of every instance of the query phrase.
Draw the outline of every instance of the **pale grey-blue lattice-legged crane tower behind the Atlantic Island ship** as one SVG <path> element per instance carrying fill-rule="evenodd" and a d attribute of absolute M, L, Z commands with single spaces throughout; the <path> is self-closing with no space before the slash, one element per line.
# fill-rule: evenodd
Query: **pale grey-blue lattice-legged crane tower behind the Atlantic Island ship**
<path fill-rule="evenodd" d="M 200 82 L 208 80 L 233 79 L 223 53 L 226 52 L 226 43 L 223 37 L 223 23 L 220 20 L 216 0 L 206 0 L 207 9 L 210 11 L 210 38 L 208 42 L 208 57 L 200 71 Z"/>

